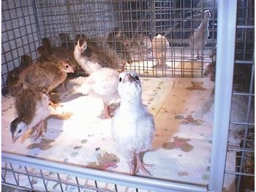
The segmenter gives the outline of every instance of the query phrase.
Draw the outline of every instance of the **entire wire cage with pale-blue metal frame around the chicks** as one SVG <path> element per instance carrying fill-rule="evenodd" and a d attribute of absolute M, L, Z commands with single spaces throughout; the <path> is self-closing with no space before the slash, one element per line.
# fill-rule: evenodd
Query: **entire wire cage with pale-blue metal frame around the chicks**
<path fill-rule="evenodd" d="M 113 47 L 127 43 L 120 63 L 132 60 L 124 69 L 143 77 L 203 77 L 212 67 L 216 77 L 208 185 L 102 172 L 2 151 L 2 188 L 37 191 L 34 185 L 41 183 L 42 191 L 222 191 L 223 180 L 236 177 L 234 190 L 254 191 L 254 5 L 250 0 L 1 1 L 3 95 L 20 57 L 39 57 L 42 38 L 73 51 L 78 35 L 100 47 L 115 30 L 121 37 L 115 34 Z M 238 101 L 243 104 L 237 106 Z M 233 113 L 237 110 L 241 118 Z M 230 153 L 236 156 L 235 170 L 225 166 Z"/>

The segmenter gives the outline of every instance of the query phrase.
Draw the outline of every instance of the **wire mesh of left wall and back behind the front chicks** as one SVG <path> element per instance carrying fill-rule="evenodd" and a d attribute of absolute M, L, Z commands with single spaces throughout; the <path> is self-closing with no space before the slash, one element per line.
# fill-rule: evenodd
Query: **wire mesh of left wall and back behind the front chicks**
<path fill-rule="evenodd" d="M 50 38 L 52 45 L 60 46 L 62 35 L 63 45 L 72 49 L 78 34 L 105 38 L 114 28 L 119 28 L 129 42 L 140 37 L 135 43 L 144 44 L 129 47 L 133 62 L 127 64 L 126 69 L 136 70 L 142 76 L 202 77 L 213 60 L 211 55 L 216 45 L 216 5 L 216 1 L 199 0 L 3 1 L 2 88 L 6 85 L 8 72 L 19 66 L 21 55 L 29 54 L 33 60 L 37 58 L 37 47 L 43 37 Z M 189 43 L 206 9 L 211 12 L 208 39 L 200 50 L 200 59 L 196 59 L 194 45 Z M 162 58 L 166 65 L 162 66 L 157 66 L 151 47 L 151 39 L 157 34 L 165 36 L 169 44 L 166 58 Z"/>

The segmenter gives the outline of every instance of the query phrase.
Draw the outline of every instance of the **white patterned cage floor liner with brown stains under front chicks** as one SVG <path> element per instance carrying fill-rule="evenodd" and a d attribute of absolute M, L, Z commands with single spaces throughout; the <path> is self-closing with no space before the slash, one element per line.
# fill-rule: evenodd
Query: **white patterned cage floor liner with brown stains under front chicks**
<path fill-rule="evenodd" d="M 78 92 L 84 80 L 86 77 L 69 80 L 67 91 L 59 96 L 60 106 L 52 110 L 54 114 L 69 114 L 70 117 L 65 120 L 50 118 L 47 132 L 36 141 L 34 134 L 29 133 L 12 143 L 10 123 L 15 118 L 14 99 L 2 96 L 1 150 L 45 161 L 129 174 L 127 161 L 116 151 L 111 138 L 111 120 L 102 118 L 102 100 Z M 146 176 L 143 172 L 138 175 L 207 185 L 212 123 L 204 118 L 204 105 L 214 83 L 208 77 L 142 77 L 141 80 L 143 103 L 154 115 L 157 131 L 153 149 L 143 155 L 146 164 L 154 164 L 148 168 L 151 175 Z M 33 185 L 44 188 L 40 182 Z M 48 185 L 56 187 L 54 183 Z M 113 190 L 112 185 L 108 187 Z"/>

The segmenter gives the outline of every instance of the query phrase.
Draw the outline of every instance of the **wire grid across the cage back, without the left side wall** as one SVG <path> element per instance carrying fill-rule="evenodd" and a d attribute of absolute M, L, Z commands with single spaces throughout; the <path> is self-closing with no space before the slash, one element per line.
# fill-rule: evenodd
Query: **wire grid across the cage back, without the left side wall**
<path fill-rule="evenodd" d="M 102 41 L 114 28 L 119 28 L 124 34 L 122 40 L 129 39 L 127 49 L 131 53 L 132 64 L 127 64 L 126 69 L 136 70 L 140 75 L 202 77 L 206 67 L 214 59 L 216 1 L 33 2 L 34 15 L 31 16 L 34 16 L 38 24 L 39 39 L 49 37 L 52 45 L 60 46 L 60 34 L 65 34 L 67 47 L 69 44 L 74 47 L 78 34 L 86 34 L 89 38 L 101 38 Z M 8 7 L 4 8 L 9 11 Z M 200 48 L 200 58 L 197 59 L 197 50 L 190 39 L 195 28 L 200 26 L 206 9 L 211 12 L 208 39 L 206 45 Z M 151 40 L 157 34 L 164 36 L 169 45 L 164 50 L 156 48 L 156 52 L 160 52 L 156 56 L 152 50 Z M 162 44 L 162 41 L 160 43 Z M 36 49 L 37 46 L 33 51 Z"/>

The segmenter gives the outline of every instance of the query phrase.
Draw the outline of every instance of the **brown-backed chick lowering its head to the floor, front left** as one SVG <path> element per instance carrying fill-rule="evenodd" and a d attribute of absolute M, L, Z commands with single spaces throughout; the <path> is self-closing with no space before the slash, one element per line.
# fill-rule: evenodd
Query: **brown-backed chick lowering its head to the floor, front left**
<path fill-rule="evenodd" d="M 45 88 L 31 86 L 20 93 L 15 100 L 15 109 L 18 118 L 12 120 L 10 132 L 12 134 L 12 142 L 29 130 L 36 128 L 36 138 L 39 138 L 44 131 L 45 119 L 50 115 L 49 97 Z"/>

